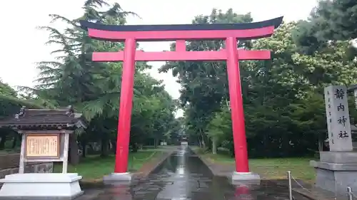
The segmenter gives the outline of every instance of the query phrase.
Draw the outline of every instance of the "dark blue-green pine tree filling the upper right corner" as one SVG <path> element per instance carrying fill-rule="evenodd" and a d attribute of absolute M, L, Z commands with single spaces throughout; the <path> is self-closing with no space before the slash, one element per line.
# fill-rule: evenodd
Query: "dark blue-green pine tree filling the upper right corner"
<path fill-rule="evenodd" d="M 296 42 L 305 53 L 313 53 L 325 48 L 329 41 L 354 40 L 357 38 L 356 14 L 356 1 L 319 1 L 309 19 L 299 22 Z"/>

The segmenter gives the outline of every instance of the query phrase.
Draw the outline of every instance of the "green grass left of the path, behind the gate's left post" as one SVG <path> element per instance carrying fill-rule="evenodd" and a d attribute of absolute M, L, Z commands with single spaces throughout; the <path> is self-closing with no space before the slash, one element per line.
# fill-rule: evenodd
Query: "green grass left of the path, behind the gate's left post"
<path fill-rule="evenodd" d="M 152 158 L 159 157 L 163 152 L 156 151 L 156 149 L 142 150 L 136 153 L 129 154 L 128 169 L 131 172 L 140 169 L 146 162 L 149 162 Z M 69 164 L 69 173 L 78 173 L 83 177 L 84 181 L 94 181 L 96 179 L 102 179 L 104 175 L 110 174 L 114 171 L 115 155 L 102 158 L 99 155 L 91 155 L 86 158 L 82 158 L 81 162 L 76 166 Z M 54 172 L 62 172 L 62 164 L 58 163 L 54 165 Z"/>

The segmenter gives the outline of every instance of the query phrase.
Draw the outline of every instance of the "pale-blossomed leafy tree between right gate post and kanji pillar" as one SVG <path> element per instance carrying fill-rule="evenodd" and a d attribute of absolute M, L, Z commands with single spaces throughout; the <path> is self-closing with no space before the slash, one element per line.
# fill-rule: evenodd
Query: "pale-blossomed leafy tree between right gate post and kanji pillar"
<path fill-rule="evenodd" d="M 245 105 L 248 142 L 262 141 L 261 147 L 269 149 L 269 156 L 273 152 L 297 155 L 298 149 L 315 149 L 318 138 L 326 137 L 323 88 L 349 85 L 357 76 L 356 60 L 348 56 L 348 41 L 328 43 L 321 52 L 299 53 L 293 40 L 297 28 L 295 22 L 284 23 L 271 38 L 253 42 L 253 48 L 268 48 L 273 55 L 266 62 L 246 63 L 253 73 L 248 93 L 243 92 L 251 96 Z M 269 143 L 273 145 L 266 146 Z M 256 153 L 263 149 L 257 148 Z"/>

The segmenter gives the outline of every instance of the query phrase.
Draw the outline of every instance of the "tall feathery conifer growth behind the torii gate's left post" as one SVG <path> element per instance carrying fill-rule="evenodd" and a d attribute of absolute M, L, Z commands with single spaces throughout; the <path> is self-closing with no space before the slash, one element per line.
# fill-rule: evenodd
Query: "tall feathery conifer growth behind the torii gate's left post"
<path fill-rule="evenodd" d="M 82 112 L 89 120 L 89 127 L 85 134 L 79 135 L 78 139 L 77 135 L 71 135 L 72 164 L 79 162 L 76 140 L 81 140 L 84 149 L 88 142 L 100 141 L 102 157 L 109 154 L 110 144 L 116 146 L 122 65 L 121 63 L 94 63 L 91 61 L 91 53 L 119 51 L 124 46 L 123 43 L 92 40 L 86 30 L 80 27 L 79 20 L 123 25 L 128 14 L 133 13 L 124 11 L 119 4 L 110 5 L 104 0 L 87 0 L 84 2 L 84 14 L 78 19 L 50 15 L 53 21 L 61 20 L 68 24 L 64 31 L 51 26 L 41 27 L 50 33 L 47 43 L 61 46 L 52 52 L 59 56 L 54 61 L 40 62 L 38 65 L 40 74 L 36 80 L 39 84 L 35 88 L 22 89 L 59 107 L 74 105 L 76 110 Z M 175 110 L 172 106 L 174 102 L 161 82 L 144 73 L 144 70 L 150 67 L 145 62 L 136 63 L 133 120 L 131 120 L 132 146 L 137 142 L 144 142 L 140 141 L 141 139 L 147 140 L 151 137 L 155 140 L 161 139 L 164 132 L 167 132 L 166 124 L 172 120 L 171 115 Z M 158 121 L 159 123 L 154 123 Z M 140 137 L 137 137 L 138 135 Z"/>

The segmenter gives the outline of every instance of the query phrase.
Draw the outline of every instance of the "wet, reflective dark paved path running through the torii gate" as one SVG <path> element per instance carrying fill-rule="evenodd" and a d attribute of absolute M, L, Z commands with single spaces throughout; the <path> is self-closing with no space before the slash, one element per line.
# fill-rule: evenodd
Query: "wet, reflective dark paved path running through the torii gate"
<path fill-rule="evenodd" d="M 79 198 L 96 200 L 238 200 L 238 199 L 288 199 L 288 190 L 261 182 L 255 189 L 246 186 L 232 186 L 226 177 L 213 177 L 211 171 L 190 149 L 180 147 L 154 172 L 131 185 L 106 186 L 89 189 L 87 195 Z M 86 198 L 93 191 L 101 194 Z M 89 195 L 90 196 L 90 195 Z M 295 196 L 298 200 L 306 200 Z"/>

